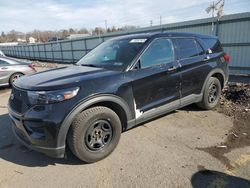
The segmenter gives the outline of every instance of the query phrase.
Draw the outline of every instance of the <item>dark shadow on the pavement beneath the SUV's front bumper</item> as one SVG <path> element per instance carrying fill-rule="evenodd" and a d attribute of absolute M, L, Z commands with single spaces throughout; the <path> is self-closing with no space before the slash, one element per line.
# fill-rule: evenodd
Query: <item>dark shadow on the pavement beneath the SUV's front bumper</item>
<path fill-rule="evenodd" d="M 46 167 L 48 165 L 83 165 L 68 149 L 66 157 L 51 158 L 42 153 L 30 150 L 20 144 L 12 133 L 12 123 L 8 114 L 0 115 L 0 158 L 18 165 L 28 167 Z"/>

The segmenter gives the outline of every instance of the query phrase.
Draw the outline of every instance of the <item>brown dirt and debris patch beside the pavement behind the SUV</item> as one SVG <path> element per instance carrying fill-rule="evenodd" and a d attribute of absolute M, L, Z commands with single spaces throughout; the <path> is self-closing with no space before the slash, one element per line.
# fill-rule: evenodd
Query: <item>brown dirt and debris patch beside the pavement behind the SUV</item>
<path fill-rule="evenodd" d="M 233 127 L 220 147 L 211 146 L 201 150 L 208 152 L 228 169 L 233 170 L 234 166 L 226 154 L 236 148 L 250 146 L 250 84 L 229 83 L 223 89 L 220 105 L 215 110 L 231 117 Z"/>

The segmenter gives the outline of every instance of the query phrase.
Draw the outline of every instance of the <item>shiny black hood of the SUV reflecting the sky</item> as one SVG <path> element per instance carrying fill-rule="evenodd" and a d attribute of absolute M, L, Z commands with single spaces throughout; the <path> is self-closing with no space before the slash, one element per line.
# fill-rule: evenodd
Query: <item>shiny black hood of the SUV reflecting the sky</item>
<path fill-rule="evenodd" d="M 61 67 L 44 72 L 38 72 L 28 76 L 23 76 L 19 78 L 14 83 L 14 85 L 25 90 L 57 90 L 79 86 L 83 81 L 115 73 L 115 71 L 96 67 Z"/>

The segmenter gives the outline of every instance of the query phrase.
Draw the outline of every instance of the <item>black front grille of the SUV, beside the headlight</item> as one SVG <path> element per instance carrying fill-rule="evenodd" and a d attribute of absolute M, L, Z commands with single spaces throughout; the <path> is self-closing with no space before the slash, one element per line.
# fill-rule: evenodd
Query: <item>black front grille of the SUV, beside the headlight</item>
<path fill-rule="evenodd" d="M 11 96 L 14 98 L 10 97 L 9 104 L 14 111 L 22 114 L 30 108 L 27 91 L 12 87 Z"/>

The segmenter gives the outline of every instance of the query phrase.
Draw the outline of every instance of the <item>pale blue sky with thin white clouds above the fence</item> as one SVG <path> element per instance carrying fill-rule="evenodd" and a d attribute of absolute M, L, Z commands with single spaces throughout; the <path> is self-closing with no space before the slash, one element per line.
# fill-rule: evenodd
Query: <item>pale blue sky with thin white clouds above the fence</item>
<path fill-rule="evenodd" d="M 0 0 L 0 31 L 149 26 L 209 17 L 211 0 Z M 225 14 L 250 11 L 250 0 L 226 0 Z"/>

